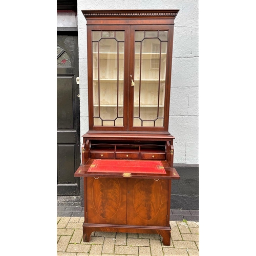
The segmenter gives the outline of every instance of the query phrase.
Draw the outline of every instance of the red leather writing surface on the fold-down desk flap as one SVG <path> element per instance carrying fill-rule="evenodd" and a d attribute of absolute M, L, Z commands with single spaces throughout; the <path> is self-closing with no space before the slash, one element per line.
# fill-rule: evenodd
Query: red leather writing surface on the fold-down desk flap
<path fill-rule="evenodd" d="M 166 174 L 161 161 L 95 159 L 88 172 Z"/>

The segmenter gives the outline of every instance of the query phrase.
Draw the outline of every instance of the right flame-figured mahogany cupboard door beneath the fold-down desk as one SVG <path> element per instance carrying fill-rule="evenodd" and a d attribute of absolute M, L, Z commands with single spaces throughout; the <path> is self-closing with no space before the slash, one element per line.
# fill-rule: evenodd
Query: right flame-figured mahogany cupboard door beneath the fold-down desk
<path fill-rule="evenodd" d="M 128 180 L 127 225 L 168 226 L 169 186 L 168 180 Z"/>

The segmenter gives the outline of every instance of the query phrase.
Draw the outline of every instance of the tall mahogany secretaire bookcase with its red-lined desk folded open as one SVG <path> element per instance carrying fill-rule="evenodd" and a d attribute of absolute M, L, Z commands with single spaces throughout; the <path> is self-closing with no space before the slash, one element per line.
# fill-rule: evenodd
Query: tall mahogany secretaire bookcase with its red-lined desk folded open
<path fill-rule="evenodd" d="M 178 11 L 82 11 L 89 131 L 75 177 L 84 178 L 84 242 L 106 231 L 158 233 L 170 245 L 171 184 L 180 178 L 168 132 Z"/>

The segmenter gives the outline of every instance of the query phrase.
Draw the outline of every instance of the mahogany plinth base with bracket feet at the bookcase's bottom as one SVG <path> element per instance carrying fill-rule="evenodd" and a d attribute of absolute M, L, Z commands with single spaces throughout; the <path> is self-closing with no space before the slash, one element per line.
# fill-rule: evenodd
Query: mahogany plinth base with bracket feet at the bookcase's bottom
<path fill-rule="evenodd" d="M 148 233 L 160 234 L 163 238 L 163 245 L 170 245 L 170 226 L 130 226 L 130 225 L 105 225 L 105 224 L 89 224 L 83 223 L 83 242 L 90 242 L 91 233 L 94 231 L 103 232 L 120 232 L 120 233 Z"/>

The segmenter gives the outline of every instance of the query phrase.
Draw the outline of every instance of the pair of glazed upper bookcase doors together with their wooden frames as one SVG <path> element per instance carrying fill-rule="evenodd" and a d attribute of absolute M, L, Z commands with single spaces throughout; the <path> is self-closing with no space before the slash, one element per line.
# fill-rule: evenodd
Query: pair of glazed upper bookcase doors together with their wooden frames
<path fill-rule="evenodd" d="M 89 128 L 167 131 L 173 25 L 88 27 Z"/>

